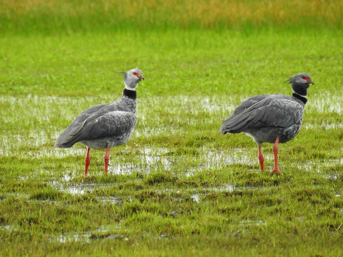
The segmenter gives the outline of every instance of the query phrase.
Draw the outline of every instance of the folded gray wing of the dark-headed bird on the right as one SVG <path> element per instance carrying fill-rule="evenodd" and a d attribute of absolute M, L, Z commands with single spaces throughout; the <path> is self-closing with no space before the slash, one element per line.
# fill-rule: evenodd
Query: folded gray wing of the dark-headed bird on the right
<path fill-rule="evenodd" d="M 258 101 L 259 98 L 261 100 Z M 239 133 L 262 126 L 287 127 L 298 123 L 303 113 L 303 106 L 288 96 L 267 95 L 264 98 L 247 98 L 223 122 L 220 132 Z"/>

